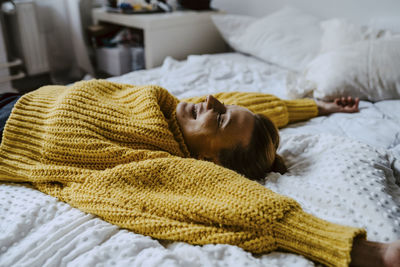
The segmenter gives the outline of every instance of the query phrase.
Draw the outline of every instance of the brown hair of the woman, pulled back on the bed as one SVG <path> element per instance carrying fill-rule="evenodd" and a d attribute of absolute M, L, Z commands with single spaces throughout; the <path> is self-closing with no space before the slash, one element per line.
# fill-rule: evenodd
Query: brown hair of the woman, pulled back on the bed
<path fill-rule="evenodd" d="M 283 159 L 276 154 L 279 132 L 270 119 L 255 114 L 254 128 L 247 147 L 224 149 L 219 154 L 221 165 L 251 180 L 263 179 L 270 171 L 287 171 Z"/>

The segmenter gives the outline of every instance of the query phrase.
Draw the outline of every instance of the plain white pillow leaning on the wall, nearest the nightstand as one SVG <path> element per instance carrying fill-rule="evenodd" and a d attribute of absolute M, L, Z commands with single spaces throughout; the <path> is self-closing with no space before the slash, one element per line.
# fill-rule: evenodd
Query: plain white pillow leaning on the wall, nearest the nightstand
<path fill-rule="evenodd" d="M 234 50 L 292 71 L 302 71 L 319 52 L 319 19 L 294 7 L 254 21 L 239 18 L 236 23 L 240 27 L 231 27 L 229 34 L 224 31 L 227 20 L 221 24 L 214 19 L 214 23 Z"/>

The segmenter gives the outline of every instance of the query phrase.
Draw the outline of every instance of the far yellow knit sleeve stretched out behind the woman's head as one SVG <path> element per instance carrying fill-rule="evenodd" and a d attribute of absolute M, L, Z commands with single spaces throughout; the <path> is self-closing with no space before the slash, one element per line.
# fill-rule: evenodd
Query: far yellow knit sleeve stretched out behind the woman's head
<path fill-rule="evenodd" d="M 261 113 L 271 119 L 279 128 L 288 123 L 308 120 L 318 115 L 318 107 L 312 99 L 282 100 L 276 96 L 252 92 L 227 92 L 214 95 L 227 105 L 239 105 L 253 113 Z M 182 101 L 199 103 L 205 97 L 192 97 Z"/>

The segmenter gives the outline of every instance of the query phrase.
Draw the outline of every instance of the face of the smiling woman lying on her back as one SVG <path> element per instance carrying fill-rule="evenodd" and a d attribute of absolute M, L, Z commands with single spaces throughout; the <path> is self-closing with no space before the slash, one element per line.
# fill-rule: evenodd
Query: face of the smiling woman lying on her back
<path fill-rule="evenodd" d="M 255 120 L 250 110 L 224 105 L 212 95 L 198 104 L 180 102 L 176 116 L 192 156 L 217 164 L 222 149 L 249 144 Z"/>

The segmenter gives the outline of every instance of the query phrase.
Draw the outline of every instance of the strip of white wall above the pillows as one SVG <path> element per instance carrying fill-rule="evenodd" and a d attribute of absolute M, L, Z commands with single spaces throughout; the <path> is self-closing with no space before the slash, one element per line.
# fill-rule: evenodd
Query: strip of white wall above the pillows
<path fill-rule="evenodd" d="M 400 0 L 213 0 L 211 5 L 227 13 L 257 17 L 292 5 L 321 18 L 344 17 L 361 23 L 374 17 L 400 18 Z"/>

